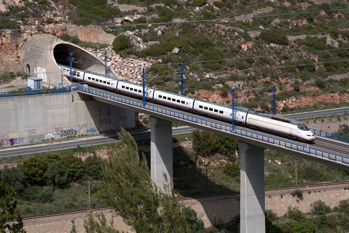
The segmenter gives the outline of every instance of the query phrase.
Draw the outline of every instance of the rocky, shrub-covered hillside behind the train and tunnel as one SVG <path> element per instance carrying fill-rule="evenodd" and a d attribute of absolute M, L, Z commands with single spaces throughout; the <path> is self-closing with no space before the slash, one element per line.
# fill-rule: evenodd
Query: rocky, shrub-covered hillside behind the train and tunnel
<path fill-rule="evenodd" d="M 276 85 L 279 113 L 328 102 L 341 106 L 348 100 L 349 13 L 340 9 L 348 5 L 346 0 L 0 1 L 0 29 L 24 29 L 0 31 L 0 72 L 19 72 L 23 42 L 31 34 L 51 33 L 91 47 L 101 60 L 101 49 L 111 45 L 108 65 L 134 82 L 140 82 L 139 66 L 161 65 L 151 66 L 147 77 L 156 76 L 152 84 L 172 92 L 180 91 L 174 75 L 183 65 L 189 96 L 229 105 L 228 89 L 238 88 L 248 101 L 240 105 L 270 111 L 263 96 Z M 223 20 L 207 21 L 214 19 Z M 76 25 L 108 27 L 49 29 Z"/>

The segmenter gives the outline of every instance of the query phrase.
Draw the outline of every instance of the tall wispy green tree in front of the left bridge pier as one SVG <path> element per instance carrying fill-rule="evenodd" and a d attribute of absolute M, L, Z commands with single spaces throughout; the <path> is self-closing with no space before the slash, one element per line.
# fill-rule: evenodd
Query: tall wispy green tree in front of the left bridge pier
<path fill-rule="evenodd" d="M 103 167 L 102 192 L 106 203 L 137 233 L 187 232 L 173 183 L 158 190 L 150 178 L 144 154 L 142 158 L 138 154 L 134 138 L 124 129 L 118 135 L 120 143 L 110 144 L 109 159 Z"/>

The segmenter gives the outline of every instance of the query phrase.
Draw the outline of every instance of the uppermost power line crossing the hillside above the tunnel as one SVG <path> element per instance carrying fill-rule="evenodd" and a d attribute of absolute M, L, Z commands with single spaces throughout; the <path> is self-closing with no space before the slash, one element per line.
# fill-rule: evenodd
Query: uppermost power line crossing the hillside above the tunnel
<path fill-rule="evenodd" d="M 333 12 L 339 10 L 348 10 L 349 8 L 336 9 L 336 10 L 317 10 L 311 12 L 301 12 L 301 13 L 288 13 L 288 14 L 277 14 L 277 15 L 257 15 L 257 16 L 245 16 L 245 17 L 235 17 L 226 19 L 212 19 L 212 20 L 193 20 L 193 21 L 179 21 L 179 22 L 164 22 L 164 23 L 139 23 L 139 24 L 122 24 L 122 25 L 102 25 L 102 26 L 77 26 L 77 27 L 57 27 L 57 28 L 25 28 L 25 29 L 0 29 L 0 31 L 28 31 L 28 30 L 55 30 L 55 29 L 76 29 L 76 28 L 110 28 L 110 27 L 124 27 L 124 26 L 144 26 L 149 24 L 162 25 L 162 24 L 176 24 L 176 23 L 197 23 L 197 22 L 210 22 L 210 21 L 221 21 L 221 20 L 242 20 L 251 18 L 261 18 L 261 17 L 275 17 L 275 16 L 285 16 L 285 15 L 299 15 L 299 14 L 310 14 L 310 13 L 320 13 L 320 12 Z"/>

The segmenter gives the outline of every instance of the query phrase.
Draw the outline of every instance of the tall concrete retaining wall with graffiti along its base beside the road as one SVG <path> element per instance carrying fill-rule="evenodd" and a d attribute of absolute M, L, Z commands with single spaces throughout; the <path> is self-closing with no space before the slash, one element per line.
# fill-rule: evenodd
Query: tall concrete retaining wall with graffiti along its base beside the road
<path fill-rule="evenodd" d="M 72 93 L 0 98 L 0 145 L 107 133 L 135 126 L 134 111 Z"/>

